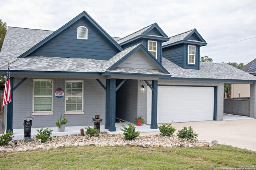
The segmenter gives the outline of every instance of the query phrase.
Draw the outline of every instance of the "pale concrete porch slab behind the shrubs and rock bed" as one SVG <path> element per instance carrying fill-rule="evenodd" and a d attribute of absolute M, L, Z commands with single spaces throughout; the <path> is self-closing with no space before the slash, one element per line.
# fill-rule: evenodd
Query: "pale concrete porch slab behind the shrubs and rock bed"
<path fill-rule="evenodd" d="M 128 122 L 124 122 L 123 123 L 126 127 L 128 127 Z M 80 129 L 83 128 L 84 129 L 85 126 L 70 126 L 70 127 L 66 127 L 64 132 L 58 132 L 58 127 L 48 127 L 49 129 L 52 129 L 52 136 L 64 136 L 64 135 L 73 135 L 73 134 L 80 134 Z M 87 126 L 86 126 L 87 127 Z M 89 126 L 89 127 L 93 127 L 93 126 Z M 149 125 L 143 125 L 143 126 L 135 126 L 137 131 L 140 132 L 159 132 L 158 129 L 150 129 Z M 110 133 L 110 134 L 119 134 L 119 133 L 123 133 L 120 129 L 121 129 L 121 125 L 120 123 L 116 123 L 116 131 L 115 132 L 110 132 L 107 129 L 104 129 L 104 125 L 100 125 L 100 132 L 106 132 L 106 133 Z M 36 130 L 41 129 L 41 128 L 32 128 L 31 129 L 31 137 L 35 137 L 36 135 Z M 43 128 L 43 129 L 46 129 Z M 86 130 L 86 129 L 84 129 Z M 14 138 L 13 139 L 24 139 L 24 129 L 13 129 L 13 135 Z"/>

